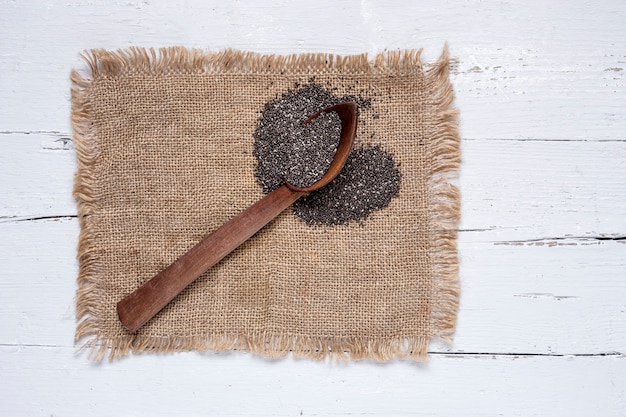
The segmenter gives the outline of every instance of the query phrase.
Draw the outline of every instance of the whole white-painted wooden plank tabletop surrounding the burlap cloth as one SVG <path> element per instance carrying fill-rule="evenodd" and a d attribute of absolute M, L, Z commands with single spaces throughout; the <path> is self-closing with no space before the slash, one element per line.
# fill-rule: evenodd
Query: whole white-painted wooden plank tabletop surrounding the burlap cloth
<path fill-rule="evenodd" d="M 445 41 L 462 300 L 430 362 L 77 354 L 71 68 L 84 49 Z M 0 0 L 0 415 L 625 416 L 626 3 Z"/>

